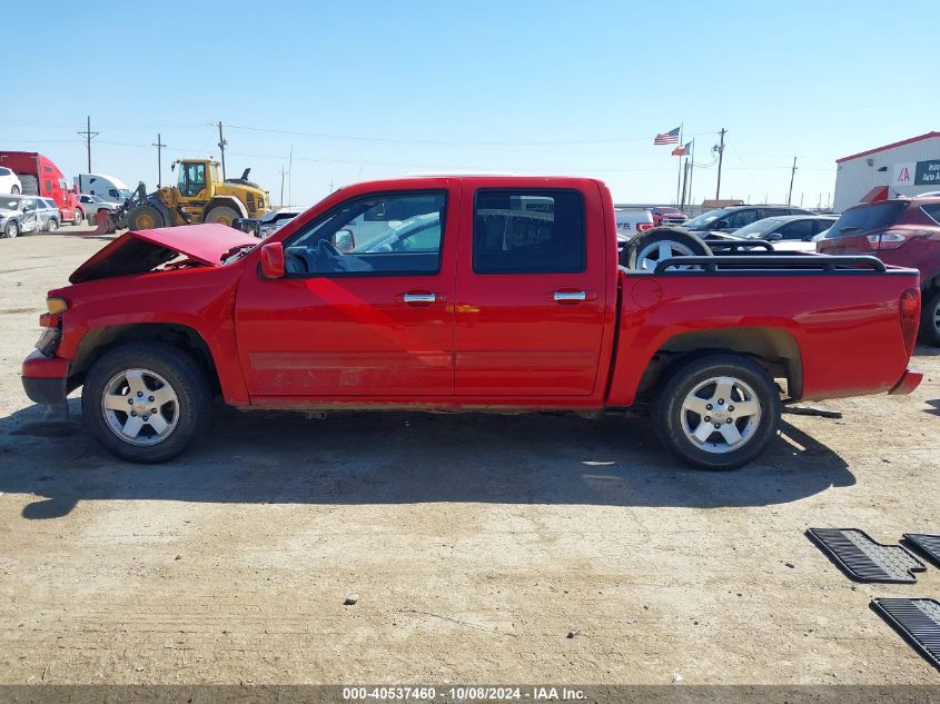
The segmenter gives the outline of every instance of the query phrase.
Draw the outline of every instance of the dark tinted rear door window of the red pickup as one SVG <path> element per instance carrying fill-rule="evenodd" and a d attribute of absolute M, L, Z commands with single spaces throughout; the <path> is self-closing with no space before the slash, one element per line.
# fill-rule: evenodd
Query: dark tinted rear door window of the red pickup
<path fill-rule="evenodd" d="M 476 274 L 575 274 L 585 269 L 584 200 L 576 191 L 479 190 L 473 221 Z"/>

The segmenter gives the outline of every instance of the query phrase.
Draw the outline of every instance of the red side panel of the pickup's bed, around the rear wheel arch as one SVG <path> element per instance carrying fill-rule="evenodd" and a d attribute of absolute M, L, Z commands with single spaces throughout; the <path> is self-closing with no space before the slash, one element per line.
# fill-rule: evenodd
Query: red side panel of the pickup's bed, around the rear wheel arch
<path fill-rule="evenodd" d="M 621 270 L 622 313 L 608 404 L 633 403 L 653 355 L 676 335 L 763 328 L 789 335 L 802 365 L 802 398 L 878 394 L 910 355 L 900 297 L 911 271 L 880 275 L 632 275 Z M 659 300 L 650 291 L 660 291 Z"/>

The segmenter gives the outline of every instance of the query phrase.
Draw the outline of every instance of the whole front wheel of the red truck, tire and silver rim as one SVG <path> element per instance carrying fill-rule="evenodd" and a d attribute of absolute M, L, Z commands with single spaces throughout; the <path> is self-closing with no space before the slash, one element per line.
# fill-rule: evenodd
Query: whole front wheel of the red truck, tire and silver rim
<path fill-rule="evenodd" d="M 81 394 L 85 423 L 101 445 L 123 459 L 166 462 L 209 424 L 206 375 L 184 350 L 132 343 L 103 355 Z"/>

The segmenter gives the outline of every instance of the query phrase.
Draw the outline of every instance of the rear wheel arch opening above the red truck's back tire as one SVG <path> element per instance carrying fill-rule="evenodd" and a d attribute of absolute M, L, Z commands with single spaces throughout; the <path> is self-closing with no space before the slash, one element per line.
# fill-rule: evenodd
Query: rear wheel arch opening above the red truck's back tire
<path fill-rule="evenodd" d="M 655 390 L 693 355 L 740 354 L 754 359 L 772 378 L 786 379 L 786 394 L 803 395 L 803 361 L 800 345 L 778 328 L 728 327 L 681 333 L 669 338 L 653 354 L 637 386 L 639 398 Z"/>

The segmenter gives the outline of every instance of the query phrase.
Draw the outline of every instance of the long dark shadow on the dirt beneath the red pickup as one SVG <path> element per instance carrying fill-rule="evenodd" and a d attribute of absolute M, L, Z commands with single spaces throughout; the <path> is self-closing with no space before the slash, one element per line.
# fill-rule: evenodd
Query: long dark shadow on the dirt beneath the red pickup
<path fill-rule="evenodd" d="M 850 486 L 847 464 L 792 425 L 759 463 L 695 472 L 660 448 L 644 418 L 337 413 L 216 408 L 211 433 L 176 460 L 133 465 L 73 418 L 32 406 L 0 419 L 0 492 L 36 494 L 26 518 L 83 499 L 399 504 L 476 502 L 604 506 L 764 506 Z"/>

